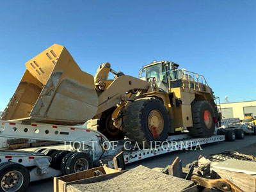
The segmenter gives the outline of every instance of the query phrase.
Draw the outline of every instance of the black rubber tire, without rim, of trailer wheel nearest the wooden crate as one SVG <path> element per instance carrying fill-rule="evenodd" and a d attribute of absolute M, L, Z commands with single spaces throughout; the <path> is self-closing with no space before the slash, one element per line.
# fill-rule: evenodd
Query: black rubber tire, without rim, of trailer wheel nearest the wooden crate
<path fill-rule="evenodd" d="M 90 170 L 93 167 L 92 157 L 90 157 L 88 154 L 83 153 L 83 152 L 76 152 L 76 153 L 72 154 L 70 157 L 68 157 L 67 163 L 65 166 L 65 172 L 67 174 L 75 173 L 74 166 L 75 166 L 77 160 L 79 160 L 81 158 L 84 158 L 87 160 L 87 162 L 88 162 L 87 170 Z"/>

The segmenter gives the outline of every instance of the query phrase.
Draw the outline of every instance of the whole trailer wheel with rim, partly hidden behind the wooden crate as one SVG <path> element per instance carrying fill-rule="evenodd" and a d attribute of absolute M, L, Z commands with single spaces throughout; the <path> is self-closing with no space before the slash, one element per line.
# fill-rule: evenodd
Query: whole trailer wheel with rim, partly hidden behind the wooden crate
<path fill-rule="evenodd" d="M 65 170 L 67 174 L 82 172 L 93 167 L 92 157 L 83 152 L 76 152 L 68 157 Z"/>

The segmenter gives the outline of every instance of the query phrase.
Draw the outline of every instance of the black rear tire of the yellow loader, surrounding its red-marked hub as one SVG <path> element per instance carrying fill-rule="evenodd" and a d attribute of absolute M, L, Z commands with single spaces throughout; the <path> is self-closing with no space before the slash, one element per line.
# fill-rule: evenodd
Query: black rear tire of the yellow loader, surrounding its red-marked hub
<path fill-rule="evenodd" d="M 209 138 L 215 130 L 214 111 L 206 100 L 194 101 L 191 104 L 193 127 L 188 127 L 189 135 L 198 138 Z M 204 111 L 208 110 L 212 116 L 211 128 L 207 128 L 204 122 Z"/>

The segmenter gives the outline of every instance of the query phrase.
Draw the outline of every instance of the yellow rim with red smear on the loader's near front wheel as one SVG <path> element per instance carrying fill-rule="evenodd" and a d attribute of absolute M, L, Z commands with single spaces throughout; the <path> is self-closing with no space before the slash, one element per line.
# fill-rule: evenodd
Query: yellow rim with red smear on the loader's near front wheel
<path fill-rule="evenodd" d="M 154 109 L 148 114 L 148 129 L 153 134 L 153 138 L 159 138 L 159 134 L 164 129 L 164 118 L 160 111 Z"/>

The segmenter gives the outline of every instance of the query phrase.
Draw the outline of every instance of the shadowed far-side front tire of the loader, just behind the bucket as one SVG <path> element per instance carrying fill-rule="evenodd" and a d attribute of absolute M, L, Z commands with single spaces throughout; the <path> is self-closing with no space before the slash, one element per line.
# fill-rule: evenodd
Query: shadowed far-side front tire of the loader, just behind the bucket
<path fill-rule="evenodd" d="M 104 134 L 104 136 L 106 136 L 106 138 L 108 138 L 109 141 L 123 140 L 124 133 L 113 125 L 113 120 L 111 118 L 113 111 L 115 111 L 115 108 L 111 108 L 107 111 L 104 111 L 104 113 L 102 113 L 100 118 L 97 120 L 97 124 L 91 125 L 90 128 L 95 129 Z M 106 128 L 106 126 L 112 127 Z"/>

